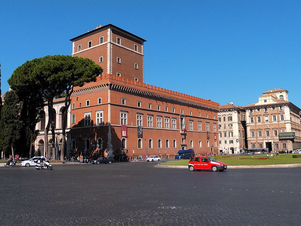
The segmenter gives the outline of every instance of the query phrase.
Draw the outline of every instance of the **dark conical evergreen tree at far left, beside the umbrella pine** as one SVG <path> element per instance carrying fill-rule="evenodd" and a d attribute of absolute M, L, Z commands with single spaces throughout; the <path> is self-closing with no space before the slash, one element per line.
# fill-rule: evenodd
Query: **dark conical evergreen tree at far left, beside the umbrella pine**
<path fill-rule="evenodd" d="M 23 122 L 20 120 L 20 100 L 17 94 L 11 90 L 6 93 L 4 101 L 5 105 L 2 107 L 0 120 L 0 143 L 5 153 L 8 154 L 11 149 L 12 155 L 14 155 L 14 149 L 20 145 L 20 131 L 23 127 Z"/>

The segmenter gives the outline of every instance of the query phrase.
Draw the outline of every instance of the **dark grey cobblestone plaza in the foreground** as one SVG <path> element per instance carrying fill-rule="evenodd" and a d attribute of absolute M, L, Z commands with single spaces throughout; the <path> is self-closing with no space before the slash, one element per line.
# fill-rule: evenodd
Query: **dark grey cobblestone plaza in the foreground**
<path fill-rule="evenodd" d="M 0 224 L 299 225 L 301 168 L 0 167 Z"/>

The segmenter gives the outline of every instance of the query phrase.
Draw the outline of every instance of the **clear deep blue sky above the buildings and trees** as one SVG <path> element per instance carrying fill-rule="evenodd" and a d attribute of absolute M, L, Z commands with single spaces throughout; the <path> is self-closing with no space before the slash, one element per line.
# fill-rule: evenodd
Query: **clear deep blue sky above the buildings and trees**
<path fill-rule="evenodd" d="M 225 104 L 273 88 L 301 107 L 301 1 L 0 1 L 2 93 L 26 60 L 114 24 L 144 43 L 145 82 Z"/>

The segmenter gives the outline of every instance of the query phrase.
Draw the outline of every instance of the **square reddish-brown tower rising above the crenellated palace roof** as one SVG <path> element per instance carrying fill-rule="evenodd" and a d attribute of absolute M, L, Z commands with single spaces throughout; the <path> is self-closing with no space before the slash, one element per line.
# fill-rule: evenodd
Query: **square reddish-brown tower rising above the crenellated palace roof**
<path fill-rule="evenodd" d="M 103 74 L 144 82 L 143 43 L 146 40 L 108 24 L 70 41 L 72 56 L 92 59 L 103 68 Z"/>

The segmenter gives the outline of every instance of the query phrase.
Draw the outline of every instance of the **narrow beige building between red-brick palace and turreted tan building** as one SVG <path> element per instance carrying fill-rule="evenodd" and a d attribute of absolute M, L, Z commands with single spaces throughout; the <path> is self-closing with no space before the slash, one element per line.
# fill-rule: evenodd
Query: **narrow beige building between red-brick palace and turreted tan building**
<path fill-rule="evenodd" d="M 233 103 L 221 105 L 218 113 L 219 151 L 238 154 L 247 148 L 246 112 Z"/>

